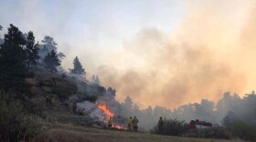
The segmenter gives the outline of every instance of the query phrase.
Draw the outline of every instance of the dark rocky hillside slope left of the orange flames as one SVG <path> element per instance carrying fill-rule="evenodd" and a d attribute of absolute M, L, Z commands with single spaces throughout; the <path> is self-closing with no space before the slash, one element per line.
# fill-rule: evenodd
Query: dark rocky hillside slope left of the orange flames
<path fill-rule="evenodd" d="M 50 123 L 71 123 L 91 125 L 91 117 L 79 116 L 72 112 L 72 103 L 90 99 L 85 88 L 87 83 L 72 76 L 62 76 L 45 67 L 32 68 L 35 76 L 27 78 L 32 93 L 29 100 L 29 111 Z M 86 87 L 87 86 L 87 87 Z"/>

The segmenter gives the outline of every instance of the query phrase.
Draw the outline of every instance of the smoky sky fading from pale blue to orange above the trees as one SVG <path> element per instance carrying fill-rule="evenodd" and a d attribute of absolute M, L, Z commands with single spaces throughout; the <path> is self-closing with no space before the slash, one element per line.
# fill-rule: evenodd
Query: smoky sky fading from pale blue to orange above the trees
<path fill-rule="evenodd" d="M 131 96 L 141 107 L 174 108 L 256 86 L 253 0 L 0 0 L 9 24 L 52 36 L 72 67 Z"/>

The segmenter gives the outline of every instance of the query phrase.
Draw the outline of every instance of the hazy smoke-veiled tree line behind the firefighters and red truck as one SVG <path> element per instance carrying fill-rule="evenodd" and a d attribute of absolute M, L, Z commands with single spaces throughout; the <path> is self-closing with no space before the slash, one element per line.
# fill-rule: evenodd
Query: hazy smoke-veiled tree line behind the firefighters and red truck
<path fill-rule="evenodd" d="M 243 97 L 226 92 L 216 104 L 208 99 L 202 99 L 200 103 L 177 106 L 173 110 L 163 106 L 148 106 L 141 109 L 136 103 L 133 103 L 130 96 L 124 99 L 122 106 L 123 116 L 137 116 L 143 119 L 141 125 L 146 129 L 154 127 L 159 117 L 184 120 L 187 123 L 190 120 L 199 119 L 219 124 L 219 126 L 228 126 L 238 120 L 249 124 L 256 122 L 256 94 L 254 91 Z"/>

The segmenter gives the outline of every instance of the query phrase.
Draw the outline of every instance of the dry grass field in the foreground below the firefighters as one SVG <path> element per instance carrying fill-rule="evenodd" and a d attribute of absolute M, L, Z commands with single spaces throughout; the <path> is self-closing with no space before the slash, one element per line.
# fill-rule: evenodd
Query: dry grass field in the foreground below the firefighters
<path fill-rule="evenodd" d="M 39 142 L 230 142 L 235 140 L 203 139 L 190 137 L 158 136 L 149 133 L 133 133 L 93 127 L 59 125 L 34 141 Z M 238 141 L 238 140 L 236 140 Z"/>

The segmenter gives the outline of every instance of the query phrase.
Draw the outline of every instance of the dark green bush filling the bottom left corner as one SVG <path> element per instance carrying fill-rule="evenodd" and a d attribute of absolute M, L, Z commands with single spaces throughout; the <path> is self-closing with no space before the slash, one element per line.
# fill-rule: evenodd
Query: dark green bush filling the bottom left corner
<path fill-rule="evenodd" d="M 23 106 L 9 100 L 9 94 L 0 92 L 0 141 L 18 141 L 34 137 L 42 125 L 23 113 Z"/>

